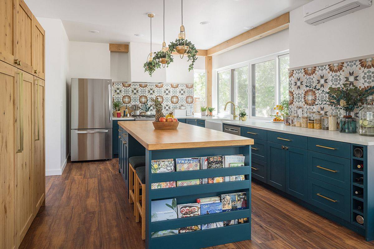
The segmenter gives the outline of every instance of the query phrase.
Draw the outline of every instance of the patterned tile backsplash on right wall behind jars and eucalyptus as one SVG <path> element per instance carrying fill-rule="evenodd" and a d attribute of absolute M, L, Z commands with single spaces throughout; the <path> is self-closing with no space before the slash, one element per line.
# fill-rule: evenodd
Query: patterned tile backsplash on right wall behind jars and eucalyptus
<path fill-rule="evenodd" d="M 349 81 L 359 88 L 374 85 L 374 58 L 353 60 L 310 68 L 289 71 L 289 107 L 295 114 L 296 106 L 303 106 L 303 112 L 316 111 L 328 115 L 331 106 L 315 105 L 319 99 L 327 99 L 327 95 L 306 88 L 306 85 L 316 85 L 327 90 L 330 86 L 340 87 Z M 373 96 L 368 97 L 368 103 L 373 103 Z M 359 108 L 351 115 L 358 117 Z"/>

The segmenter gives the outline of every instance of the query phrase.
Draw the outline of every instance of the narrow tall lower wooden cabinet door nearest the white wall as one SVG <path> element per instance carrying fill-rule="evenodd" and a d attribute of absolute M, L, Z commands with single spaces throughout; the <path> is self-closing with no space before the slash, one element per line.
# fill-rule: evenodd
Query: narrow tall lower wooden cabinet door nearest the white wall
<path fill-rule="evenodd" d="M 45 200 L 44 80 L 34 77 L 34 214 Z"/>

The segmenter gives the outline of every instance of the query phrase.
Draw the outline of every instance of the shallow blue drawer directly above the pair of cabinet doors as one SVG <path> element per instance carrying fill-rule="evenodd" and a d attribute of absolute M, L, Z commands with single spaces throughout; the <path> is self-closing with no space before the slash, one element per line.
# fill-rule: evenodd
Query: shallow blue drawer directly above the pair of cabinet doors
<path fill-rule="evenodd" d="M 307 149 L 307 137 L 304 136 L 267 131 L 267 141 Z"/>

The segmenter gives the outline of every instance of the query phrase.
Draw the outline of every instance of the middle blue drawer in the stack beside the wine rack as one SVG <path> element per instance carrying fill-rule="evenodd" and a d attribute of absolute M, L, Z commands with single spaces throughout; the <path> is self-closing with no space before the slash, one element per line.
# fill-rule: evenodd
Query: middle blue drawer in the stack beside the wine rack
<path fill-rule="evenodd" d="M 350 160 L 308 151 L 308 176 L 350 190 Z"/>

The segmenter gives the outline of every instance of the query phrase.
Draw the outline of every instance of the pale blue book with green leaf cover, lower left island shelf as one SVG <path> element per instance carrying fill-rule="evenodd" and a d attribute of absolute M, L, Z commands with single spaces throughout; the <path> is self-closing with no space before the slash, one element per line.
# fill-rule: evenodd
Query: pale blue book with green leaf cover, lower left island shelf
<path fill-rule="evenodd" d="M 151 202 L 151 222 L 176 218 L 178 218 L 177 199 L 153 200 Z M 174 234 L 178 234 L 178 228 L 156 231 L 151 233 L 151 237 L 162 237 Z"/>

